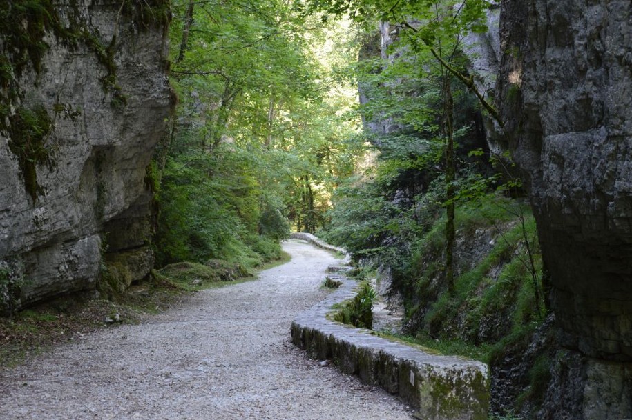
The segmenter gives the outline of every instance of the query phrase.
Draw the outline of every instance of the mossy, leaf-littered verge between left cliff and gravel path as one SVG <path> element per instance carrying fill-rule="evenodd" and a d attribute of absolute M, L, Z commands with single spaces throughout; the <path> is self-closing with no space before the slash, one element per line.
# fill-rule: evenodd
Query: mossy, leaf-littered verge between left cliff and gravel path
<path fill-rule="evenodd" d="M 226 278 L 227 269 L 233 267 L 225 261 L 213 261 L 216 268 L 195 263 L 173 264 L 155 272 L 151 282 L 132 286 L 117 301 L 70 296 L 23 310 L 10 318 L 0 317 L 0 368 L 18 366 L 61 343 L 112 328 L 115 324 L 105 320 L 113 314 L 119 314 L 122 323 L 138 323 L 178 305 L 192 292 L 257 279 L 261 270 L 289 259 L 289 254 L 283 252 L 276 261 L 223 281 L 222 275 Z"/>

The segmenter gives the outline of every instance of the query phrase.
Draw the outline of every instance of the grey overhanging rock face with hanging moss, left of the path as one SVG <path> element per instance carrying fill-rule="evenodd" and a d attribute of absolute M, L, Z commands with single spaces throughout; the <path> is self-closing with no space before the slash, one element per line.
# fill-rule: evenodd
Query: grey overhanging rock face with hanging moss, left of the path
<path fill-rule="evenodd" d="M 81 26 L 85 39 L 71 46 L 57 32 L 45 32 L 49 48 L 41 69 L 29 66 L 15 75 L 21 93 L 10 114 L 48 114 L 48 164 L 25 170 L 12 149 L 20 141 L 15 130 L 0 132 L 5 312 L 56 294 L 95 290 L 104 271 L 130 283 L 146 276 L 153 261 L 146 168 L 170 108 L 168 18 L 146 17 L 166 3 L 71 3 L 55 12 L 64 27 Z M 6 42 L 0 39 L 5 51 Z M 108 264 L 111 270 L 104 270 Z"/>

